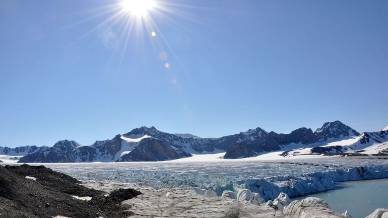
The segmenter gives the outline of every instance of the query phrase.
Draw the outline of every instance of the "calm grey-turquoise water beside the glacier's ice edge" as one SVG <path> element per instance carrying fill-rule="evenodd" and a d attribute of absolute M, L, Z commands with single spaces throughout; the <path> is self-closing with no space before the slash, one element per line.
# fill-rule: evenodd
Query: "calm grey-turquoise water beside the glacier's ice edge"
<path fill-rule="evenodd" d="M 353 218 L 364 218 L 376 208 L 388 208 L 388 179 L 341 182 L 337 189 L 304 197 L 319 197 L 329 203 L 330 208 L 343 213 L 345 210 Z"/>

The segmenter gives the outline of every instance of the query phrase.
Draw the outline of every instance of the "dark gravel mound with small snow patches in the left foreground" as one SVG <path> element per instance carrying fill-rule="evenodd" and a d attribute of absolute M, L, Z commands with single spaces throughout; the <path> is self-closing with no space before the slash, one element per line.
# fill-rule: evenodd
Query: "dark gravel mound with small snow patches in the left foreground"
<path fill-rule="evenodd" d="M 25 176 L 35 177 L 36 181 Z M 121 207 L 122 199 L 141 194 L 120 189 L 107 197 L 104 192 L 88 189 L 80 181 L 44 166 L 0 166 L 0 217 L 51 218 L 61 215 L 78 218 L 124 218 L 134 213 Z M 91 201 L 73 198 L 92 197 Z"/>

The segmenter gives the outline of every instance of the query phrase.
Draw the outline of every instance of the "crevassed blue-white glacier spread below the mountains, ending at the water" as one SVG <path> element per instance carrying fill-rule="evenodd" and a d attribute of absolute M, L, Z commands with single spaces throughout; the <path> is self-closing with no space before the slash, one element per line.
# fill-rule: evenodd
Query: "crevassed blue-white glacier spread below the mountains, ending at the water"
<path fill-rule="evenodd" d="M 383 158 L 332 157 L 287 161 L 131 162 L 44 164 L 77 179 L 141 183 L 160 188 L 249 189 L 266 201 L 281 192 L 290 197 L 335 188 L 335 182 L 388 178 Z"/>

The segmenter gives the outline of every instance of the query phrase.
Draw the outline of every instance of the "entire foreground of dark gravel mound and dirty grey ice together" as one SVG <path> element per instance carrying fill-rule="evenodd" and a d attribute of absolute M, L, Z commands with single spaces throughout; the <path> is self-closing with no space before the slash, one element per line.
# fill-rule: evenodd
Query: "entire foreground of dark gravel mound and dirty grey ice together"
<path fill-rule="evenodd" d="M 135 190 L 135 189 L 136 190 Z M 285 193 L 265 201 L 248 189 L 153 189 L 142 184 L 81 183 L 44 166 L 0 166 L 0 217 L 292 217 L 349 218 L 322 199 L 292 201 Z M 388 217 L 376 209 L 367 218 Z"/>

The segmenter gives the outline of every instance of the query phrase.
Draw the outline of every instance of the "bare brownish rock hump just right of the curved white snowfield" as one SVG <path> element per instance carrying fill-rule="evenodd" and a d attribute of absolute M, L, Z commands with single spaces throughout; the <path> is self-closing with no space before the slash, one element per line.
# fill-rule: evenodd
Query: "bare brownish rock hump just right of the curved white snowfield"
<path fill-rule="evenodd" d="M 155 138 L 145 138 L 130 153 L 123 155 L 117 162 L 126 161 L 167 161 L 191 157 L 191 154 L 172 147 L 168 142 Z"/>

